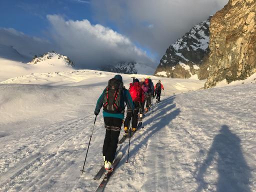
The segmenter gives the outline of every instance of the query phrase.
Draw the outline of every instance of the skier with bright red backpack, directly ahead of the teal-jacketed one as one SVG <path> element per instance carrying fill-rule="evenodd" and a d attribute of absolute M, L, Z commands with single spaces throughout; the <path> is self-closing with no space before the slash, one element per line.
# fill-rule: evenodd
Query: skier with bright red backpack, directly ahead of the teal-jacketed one
<path fill-rule="evenodd" d="M 127 109 L 126 118 L 124 120 L 124 132 L 128 132 L 128 125 L 130 123 L 131 117 L 131 127 L 132 131 L 136 131 L 137 123 L 138 123 L 138 112 L 139 105 L 144 102 L 144 92 L 140 86 L 139 80 L 137 78 L 133 78 L 133 82 L 130 83 L 129 92 L 133 101 L 134 109 Z"/>

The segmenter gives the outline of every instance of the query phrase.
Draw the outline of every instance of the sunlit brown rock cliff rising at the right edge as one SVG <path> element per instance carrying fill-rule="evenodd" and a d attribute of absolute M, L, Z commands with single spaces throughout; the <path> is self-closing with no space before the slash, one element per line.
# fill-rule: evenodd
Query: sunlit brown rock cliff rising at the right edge
<path fill-rule="evenodd" d="M 256 1 L 229 0 L 210 23 L 209 76 L 204 88 L 221 80 L 243 80 L 256 72 Z"/>

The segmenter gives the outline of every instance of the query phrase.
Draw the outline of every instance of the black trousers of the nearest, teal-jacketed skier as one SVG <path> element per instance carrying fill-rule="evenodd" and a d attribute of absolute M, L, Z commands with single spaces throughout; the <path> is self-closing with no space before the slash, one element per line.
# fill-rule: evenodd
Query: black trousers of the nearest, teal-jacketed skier
<path fill-rule="evenodd" d="M 121 128 L 122 119 L 114 118 L 114 117 L 104 117 L 104 123 L 105 125 L 107 125 L 107 127 Z M 102 153 L 103 153 L 103 156 L 105 156 L 105 160 L 111 163 L 114 160 L 114 155 L 117 148 L 119 134 L 120 134 L 119 130 L 106 128 Z"/>

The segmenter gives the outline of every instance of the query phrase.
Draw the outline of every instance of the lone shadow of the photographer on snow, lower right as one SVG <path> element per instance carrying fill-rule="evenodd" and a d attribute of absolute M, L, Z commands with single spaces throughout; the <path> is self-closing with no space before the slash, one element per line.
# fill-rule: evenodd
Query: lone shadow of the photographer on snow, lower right
<path fill-rule="evenodd" d="M 214 156 L 215 154 L 217 156 Z M 217 192 L 250 191 L 251 173 L 241 151 L 240 138 L 232 133 L 227 125 L 221 126 L 206 159 L 197 170 L 197 192 L 206 190 L 207 182 L 204 181 L 203 175 L 213 160 L 216 161 L 218 172 Z"/>

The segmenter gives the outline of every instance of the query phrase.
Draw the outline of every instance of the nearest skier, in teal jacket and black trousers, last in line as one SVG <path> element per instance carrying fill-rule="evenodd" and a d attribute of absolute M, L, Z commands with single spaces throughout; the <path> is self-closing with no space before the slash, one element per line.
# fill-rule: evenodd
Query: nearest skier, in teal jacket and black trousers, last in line
<path fill-rule="evenodd" d="M 108 171 L 113 170 L 113 159 L 118 143 L 122 119 L 124 118 L 124 102 L 128 110 L 133 110 L 133 103 L 129 91 L 123 86 L 122 76 L 116 74 L 108 80 L 106 88 L 97 100 L 94 114 L 98 115 L 103 107 L 103 118 L 106 128 L 102 148 L 104 166 Z"/>

